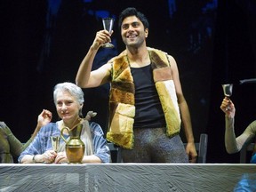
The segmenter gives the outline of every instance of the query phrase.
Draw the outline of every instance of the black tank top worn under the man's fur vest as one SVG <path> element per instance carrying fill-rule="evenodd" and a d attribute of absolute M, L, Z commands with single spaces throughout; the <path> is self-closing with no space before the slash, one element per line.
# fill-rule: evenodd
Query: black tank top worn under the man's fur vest
<path fill-rule="evenodd" d="M 151 65 L 131 68 L 135 84 L 134 128 L 157 128 L 166 125 Z"/>

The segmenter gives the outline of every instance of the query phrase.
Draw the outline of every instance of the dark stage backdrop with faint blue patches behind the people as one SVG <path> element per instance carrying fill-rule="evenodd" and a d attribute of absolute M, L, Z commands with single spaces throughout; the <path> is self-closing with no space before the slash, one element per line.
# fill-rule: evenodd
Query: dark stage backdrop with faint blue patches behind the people
<path fill-rule="evenodd" d="M 113 50 L 100 49 L 94 67 L 124 50 L 117 17 L 134 6 L 149 20 L 148 46 L 170 53 L 190 108 L 194 135 L 209 135 L 208 163 L 237 163 L 224 146 L 221 84 L 233 83 L 236 134 L 255 119 L 256 3 L 250 0 L 1 0 L 0 120 L 21 141 L 28 140 L 43 108 L 58 120 L 52 100 L 55 84 L 75 83 L 76 71 L 102 28 L 101 18 L 116 18 Z M 107 131 L 108 84 L 84 89 L 84 114 Z M 184 139 L 184 133 L 181 132 Z M 186 141 L 186 140 L 184 140 Z"/>

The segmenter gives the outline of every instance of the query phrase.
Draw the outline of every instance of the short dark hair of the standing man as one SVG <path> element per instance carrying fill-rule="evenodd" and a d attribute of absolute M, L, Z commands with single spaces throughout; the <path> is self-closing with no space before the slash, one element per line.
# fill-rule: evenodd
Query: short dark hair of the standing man
<path fill-rule="evenodd" d="M 148 19 L 142 12 L 138 12 L 134 7 L 126 8 L 121 14 L 119 15 L 118 27 L 121 29 L 122 22 L 126 17 L 136 16 L 144 25 L 144 28 L 149 28 Z"/>

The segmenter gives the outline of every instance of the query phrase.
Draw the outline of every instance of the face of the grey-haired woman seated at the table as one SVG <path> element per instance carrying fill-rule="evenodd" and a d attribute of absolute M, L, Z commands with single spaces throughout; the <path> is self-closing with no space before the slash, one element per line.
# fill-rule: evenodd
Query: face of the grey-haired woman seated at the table
<path fill-rule="evenodd" d="M 76 100 L 76 97 L 69 92 L 59 92 L 57 94 L 57 113 L 66 124 L 72 124 L 79 117 L 79 110 L 83 107 Z"/>

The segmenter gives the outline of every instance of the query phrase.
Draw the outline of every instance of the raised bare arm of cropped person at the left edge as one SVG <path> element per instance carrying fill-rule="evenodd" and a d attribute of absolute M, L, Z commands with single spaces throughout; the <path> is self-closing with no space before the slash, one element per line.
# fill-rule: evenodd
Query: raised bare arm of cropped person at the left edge
<path fill-rule="evenodd" d="M 20 153 L 28 147 L 32 140 L 36 137 L 36 133 L 45 124 L 48 124 L 52 120 L 52 113 L 48 110 L 43 110 L 37 117 L 36 129 L 31 135 L 31 138 L 24 144 L 21 143 L 12 133 L 11 129 L 0 122 L 0 163 L 12 164 L 13 157 L 20 156 Z"/>

